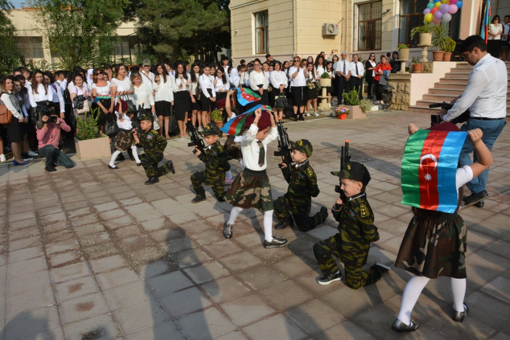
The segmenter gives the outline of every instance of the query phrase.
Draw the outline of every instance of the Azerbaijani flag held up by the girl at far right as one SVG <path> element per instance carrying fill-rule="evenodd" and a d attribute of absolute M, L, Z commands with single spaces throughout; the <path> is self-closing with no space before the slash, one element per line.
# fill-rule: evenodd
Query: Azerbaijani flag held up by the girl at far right
<path fill-rule="evenodd" d="M 418 130 L 409 136 L 402 159 L 402 204 L 455 212 L 455 176 L 466 132 Z"/>

